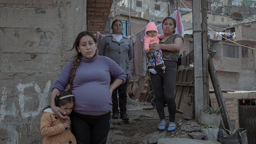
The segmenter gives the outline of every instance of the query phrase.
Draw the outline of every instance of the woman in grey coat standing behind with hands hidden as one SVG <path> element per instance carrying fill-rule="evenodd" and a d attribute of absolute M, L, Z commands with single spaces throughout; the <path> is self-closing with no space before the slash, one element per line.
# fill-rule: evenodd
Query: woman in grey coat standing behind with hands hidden
<path fill-rule="evenodd" d="M 126 74 L 131 73 L 129 63 L 133 57 L 132 43 L 131 40 L 122 34 L 122 22 L 120 20 L 114 20 L 111 25 L 113 33 L 110 33 L 102 38 L 99 44 L 99 55 L 107 56 L 114 60 Z M 111 77 L 111 83 L 114 82 L 114 77 Z M 113 103 L 113 114 L 112 118 L 118 119 L 118 100 L 117 91 L 119 94 L 119 108 L 120 108 L 120 119 L 129 120 L 126 114 L 126 103 L 127 103 L 127 80 L 124 84 L 121 84 L 112 93 Z"/>

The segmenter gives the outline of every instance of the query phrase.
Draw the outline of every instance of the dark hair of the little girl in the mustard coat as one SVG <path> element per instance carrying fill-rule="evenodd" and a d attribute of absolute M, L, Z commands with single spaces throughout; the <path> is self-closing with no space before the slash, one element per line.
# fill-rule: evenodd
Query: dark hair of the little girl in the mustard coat
<path fill-rule="evenodd" d="M 71 92 L 70 89 L 68 89 L 68 91 L 60 92 L 59 94 L 60 94 L 59 96 L 55 95 L 55 98 L 54 98 L 55 105 L 58 106 L 58 107 L 61 107 L 63 105 L 66 105 L 68 103 L 72 103 L 72 102 L 75 101 L 74 97 L 67 97 L 67 98 L 63 98 L 63 99 L 59 100 L 61 97 L 64 97 L 66 95 L 72 95 L 72 92 Z M 47 109 L 47 108 L 51 108 L 51 106 L 47 105 L 43 109 L 42 112 L 44 112 L 44 110 Z"/>

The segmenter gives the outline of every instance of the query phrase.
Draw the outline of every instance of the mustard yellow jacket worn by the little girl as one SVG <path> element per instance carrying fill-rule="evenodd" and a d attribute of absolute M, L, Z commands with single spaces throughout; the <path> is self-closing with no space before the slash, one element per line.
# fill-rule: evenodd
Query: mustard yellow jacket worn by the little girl
<path fill-rule="evenodd" d="M 62 123 L 66 120 L 58 118 L 51 108 L 45 109 L 41 117 L 40 130 L 44 136 L 43 144 L 48 143 L 73 143 L 76 144 L 76 138 L 70 129 L 65 130 Z M 68 120 L 70 122 L 70 119 Z"/>

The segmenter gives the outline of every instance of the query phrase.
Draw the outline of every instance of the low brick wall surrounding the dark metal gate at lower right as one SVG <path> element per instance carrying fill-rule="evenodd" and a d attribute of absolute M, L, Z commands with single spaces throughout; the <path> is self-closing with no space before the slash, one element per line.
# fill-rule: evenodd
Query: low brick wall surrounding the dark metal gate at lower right
<path fill-rule="evenodd" d="M 227 112 L 230 119 L 236 120 L 239 126 L 238 99 L 255 99 L 256 93 L 223 93 Z M 210 94 L 211 104 L 215 109 L 219 108 L 215 94 Z"/>

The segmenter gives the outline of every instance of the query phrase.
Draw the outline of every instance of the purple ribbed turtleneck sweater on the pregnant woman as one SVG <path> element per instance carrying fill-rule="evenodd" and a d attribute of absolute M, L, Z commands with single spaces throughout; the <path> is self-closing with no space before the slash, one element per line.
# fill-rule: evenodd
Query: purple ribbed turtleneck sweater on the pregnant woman
<path fill-rule="evenodd" d="M 70 77 L 69 62 L 61 71 L 60 76 L 52 86 L 65 90 Z M 110 76 L 126 81 L 126 73 L 118 64 L 105 56 L 82 58 L 76 70 L 71 90 L 75 98 L 74 110 L 86 115 L 102 115 L 112 110 L 109 86 Z"/>

